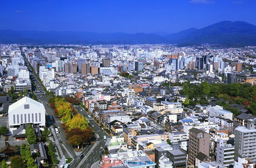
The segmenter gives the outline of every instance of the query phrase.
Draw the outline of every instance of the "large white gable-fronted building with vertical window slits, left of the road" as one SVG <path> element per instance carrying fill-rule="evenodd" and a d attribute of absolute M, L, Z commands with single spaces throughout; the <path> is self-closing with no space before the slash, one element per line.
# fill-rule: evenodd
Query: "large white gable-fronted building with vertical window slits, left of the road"
<path fill-rule="evenodd" d="M 24 97 L 9 106 L 9 130 L 14 131 L 22 124 L 32 124 L 34 127 L 45 126 L 44 104 Z"/>

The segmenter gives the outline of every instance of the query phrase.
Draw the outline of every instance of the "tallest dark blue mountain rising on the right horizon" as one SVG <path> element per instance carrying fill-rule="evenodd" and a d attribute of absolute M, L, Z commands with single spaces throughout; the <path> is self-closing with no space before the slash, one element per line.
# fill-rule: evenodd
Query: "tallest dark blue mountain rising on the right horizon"
<path fill-rule="evenodd" d="M 256 26 L 244 21 L 221 21 L 176 40 L 180 44 L 256 45 Z"/>

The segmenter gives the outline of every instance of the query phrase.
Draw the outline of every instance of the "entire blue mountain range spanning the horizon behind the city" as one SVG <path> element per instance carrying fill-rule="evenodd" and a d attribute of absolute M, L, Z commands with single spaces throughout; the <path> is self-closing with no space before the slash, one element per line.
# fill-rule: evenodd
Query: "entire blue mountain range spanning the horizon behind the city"
<path fill-rule="evenodd" d="M 0 43 L 19 44 L 157 44 L 256 45 L 256 26 L 244 21 L 221 21 L 173 34 L 91 33 L 75 31 L 0 30 Z"/>

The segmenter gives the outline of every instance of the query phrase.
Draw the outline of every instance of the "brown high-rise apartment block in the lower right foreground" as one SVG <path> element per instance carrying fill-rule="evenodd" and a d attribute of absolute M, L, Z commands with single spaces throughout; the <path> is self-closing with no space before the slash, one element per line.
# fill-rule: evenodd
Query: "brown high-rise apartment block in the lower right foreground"
<path fill-rule="evenodd" d="M 197 128 L 189 130 L 189 150 L 188 160 L 195 165 L 196 157 L 199 152 L 209 156 L 210 135 Z"/>

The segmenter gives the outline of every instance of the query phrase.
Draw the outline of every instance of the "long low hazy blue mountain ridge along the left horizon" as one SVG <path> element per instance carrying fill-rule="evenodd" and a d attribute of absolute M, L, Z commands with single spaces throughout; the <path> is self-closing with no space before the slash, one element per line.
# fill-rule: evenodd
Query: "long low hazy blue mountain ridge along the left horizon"
<path fill-rule="evenodd" d="M 168 43 L 156 34 L 91 33 L 74 31 L 0 31 L 0 43 L 36 44 L 144 44 Z"/>

